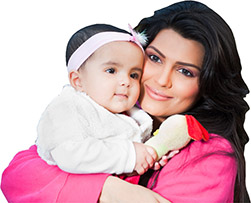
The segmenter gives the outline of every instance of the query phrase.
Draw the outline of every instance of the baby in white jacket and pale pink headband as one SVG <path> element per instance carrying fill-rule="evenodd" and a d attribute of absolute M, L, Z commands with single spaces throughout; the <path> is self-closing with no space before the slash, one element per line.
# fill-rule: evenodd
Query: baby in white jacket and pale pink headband
<path fill-rule="evenodd" d="M 38 124 L 38 154 L 71 173 L 143 174 L 157 159 L 142 142 L 152 119 L 134 107 L 144 50 L 137 36 L 106 24 L 77 31 L 66 50 L 70 85 Z"/>

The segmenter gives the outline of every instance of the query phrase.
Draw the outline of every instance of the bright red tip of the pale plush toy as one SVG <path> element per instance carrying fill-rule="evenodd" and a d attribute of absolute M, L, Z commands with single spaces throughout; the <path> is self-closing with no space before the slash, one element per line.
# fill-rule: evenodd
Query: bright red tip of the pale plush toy
<path fill-rule="evenodd" d="M 207 141 L 209 134 L 207 130 L 191 115 L 185 115 L 187 121 L 188 134 L 193 140 Z"/>

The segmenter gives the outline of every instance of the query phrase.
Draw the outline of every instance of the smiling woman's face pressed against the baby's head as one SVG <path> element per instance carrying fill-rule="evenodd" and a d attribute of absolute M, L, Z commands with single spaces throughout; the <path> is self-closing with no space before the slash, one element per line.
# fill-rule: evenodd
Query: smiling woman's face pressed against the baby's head
<path fill-rule="evenodd" d="M 191 108 L 199 94 L 203 58 L 200 43 L 172 29 L 160 31 L 146 48 L 141 107 L 160 121 Z"/>

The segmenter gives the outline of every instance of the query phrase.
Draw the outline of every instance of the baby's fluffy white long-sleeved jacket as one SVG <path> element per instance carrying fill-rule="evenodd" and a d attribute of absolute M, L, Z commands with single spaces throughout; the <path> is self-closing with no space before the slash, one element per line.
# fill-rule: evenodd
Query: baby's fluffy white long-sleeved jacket
<path fill-rule="evenodd" d="M 152 119 L 134 107 L 113 114 L 83 92 L 66 85 L 39 121 L 39 156 L 70 173 L 130 173 L 134 142 L 149 138 Z"/>

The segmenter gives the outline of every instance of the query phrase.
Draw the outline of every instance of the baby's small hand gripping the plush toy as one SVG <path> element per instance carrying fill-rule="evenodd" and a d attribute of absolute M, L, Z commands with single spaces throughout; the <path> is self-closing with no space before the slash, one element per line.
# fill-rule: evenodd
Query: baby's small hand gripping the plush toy
<path fill-rule="evenodd" d="M 134 142 L 136 151 L 136 164 L 134 170 L 139 174 L 144 174 L 157 161 L 156 151 L 147 145 Z"/>

